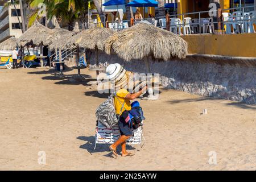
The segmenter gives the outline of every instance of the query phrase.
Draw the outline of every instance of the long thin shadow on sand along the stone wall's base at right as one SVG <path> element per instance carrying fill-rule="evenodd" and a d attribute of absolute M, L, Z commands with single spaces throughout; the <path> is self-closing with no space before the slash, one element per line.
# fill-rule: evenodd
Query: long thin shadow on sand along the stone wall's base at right
<path fill-rule="evenodd" d="M 207 100 L 226 101 L 226 100 L 221 100 L 220 98 L 202 97 L 202 98 L 189 98 L 189 99 L 184 99 L 184 100 L 171 100 L 171 101 L 168 101 L 168 102 L 170 102 L 170 104 L 180 104 L 180 103 L 187 103 L 187 102 L 207 101 Z M 225 105 L 227 105 L 227 106 L 236 106 L 236 107 L 240 107 L 241 109 L 256 110 L 255 105 L 249 105 L 249 104 L 246 104 L 245 102 L 230 102 L 230 103 L 227 103 Z"/>

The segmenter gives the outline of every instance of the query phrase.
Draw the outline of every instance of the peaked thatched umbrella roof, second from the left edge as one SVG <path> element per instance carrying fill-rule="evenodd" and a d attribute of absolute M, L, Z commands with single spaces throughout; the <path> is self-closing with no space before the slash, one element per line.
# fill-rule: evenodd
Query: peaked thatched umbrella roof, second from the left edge
<path fill-rule="evenodd" d="M 19 37 L 18 44 L 19 46 L 25 46 L 27 43 L 32 42 L 37 46 L 41 43 L 46 46 L 49 44 L 49 42 L 47 42 L 49 36 L 51 36 L 51 29 L 36 21 L 33 26 L 28 28 L 28 30 Z"/>

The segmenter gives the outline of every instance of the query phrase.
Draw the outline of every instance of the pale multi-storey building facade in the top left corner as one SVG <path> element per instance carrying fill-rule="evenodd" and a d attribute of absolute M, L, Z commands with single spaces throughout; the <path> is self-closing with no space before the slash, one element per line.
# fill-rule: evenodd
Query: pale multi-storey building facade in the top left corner
<path fill-rule="evenodd" d="M 11 36 L 19 38 L 22 35 L 22 27 L 19 24 L 19 21 L 22 23 L 19 5 L 15 5 L 15 11 L 13 5 L 5 7 L 5 3 L 6 1 L 0 1 L 0 42 L 9 39 Z"/>

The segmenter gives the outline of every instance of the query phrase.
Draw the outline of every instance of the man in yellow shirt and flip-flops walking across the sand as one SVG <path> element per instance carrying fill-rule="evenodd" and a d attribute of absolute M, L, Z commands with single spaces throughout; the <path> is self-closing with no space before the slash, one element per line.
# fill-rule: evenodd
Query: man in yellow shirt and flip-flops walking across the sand
<path fill-rule="evenodd" d="M 121 65 L 119 64 L 110 64 L 108 68 L 106 68 L 106 74 L 108 78 L 118 77 L 118 73 L 122 72 L 124 70 Z M 121 76 L 122 77 L 122 76 Z M 125 77 L 125 76 L 124 76 Z M 118 80 L 118 78 L 117 78 Z M 117 154 L 117 146 L 121 145 L 122 147 L 122 156 L 133 156 L 134 154 L 131 154 L 130 152 L 126 151 L 126 140 L 133 136 L 133 129 L 132 126 L 129 125 L 128 122 L 125 121 L 125 119 L 122 117 L 123 111 L 131 110 L 131 100 L 134 100 L 135 98 L 138 98 L 141 96 L 142 93 L 147 89 L 147 86 L 144 86 L 139 92 L 137 93 L 129 93 L 127 89 L 123 88 L 123 85 L 115 88 L 117 92 L 115 93 L 114 97 L 114 106 L 115 106 L 115 113 L 119 117 L 118 126 L 121 133 L 121 137 L 109 146 L 110 150 L 113 152 L 115 156 L 118 156 Z"/>

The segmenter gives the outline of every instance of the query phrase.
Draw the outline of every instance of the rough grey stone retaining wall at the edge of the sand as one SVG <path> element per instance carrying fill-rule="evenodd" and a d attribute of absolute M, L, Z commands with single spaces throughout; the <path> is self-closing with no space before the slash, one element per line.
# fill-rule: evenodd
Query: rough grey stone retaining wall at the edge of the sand
<path fill-rule="evenodd" d="M 88 54 L 90 64 L 94 64 L 94 57 L 94 52 Z M 101 63 L 119 63 L 127 71 L 147 73 L 143 60 L 126 62 L 117 55 L 108 56 L 103 52 L 99 59 Z M 161 84 L 166 88 L 256 104 L 256 67 L 245 62 L 188 56 L 185 60 L 150 60 L 150 69 L 152 73 L 160 74 Z M 249 60 L 248 63 L 256 62 Z"/>

